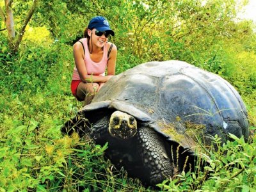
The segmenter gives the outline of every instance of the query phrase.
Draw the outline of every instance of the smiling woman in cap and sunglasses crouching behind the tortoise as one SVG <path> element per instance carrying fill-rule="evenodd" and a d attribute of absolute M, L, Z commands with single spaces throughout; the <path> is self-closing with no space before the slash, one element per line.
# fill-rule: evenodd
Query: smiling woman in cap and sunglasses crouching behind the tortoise
<path fill-rule="evenodd" d="M 104 17 L 93 17 L 84 31 L 84 37 L 73 46 L 74 67 L 71 90 L 77 100 L 90 104 L 95 93 L 115 75 L 116 45 L 108 42 L 114 31 Z M 105 76 L 105 70 L 107 76 Z"/>

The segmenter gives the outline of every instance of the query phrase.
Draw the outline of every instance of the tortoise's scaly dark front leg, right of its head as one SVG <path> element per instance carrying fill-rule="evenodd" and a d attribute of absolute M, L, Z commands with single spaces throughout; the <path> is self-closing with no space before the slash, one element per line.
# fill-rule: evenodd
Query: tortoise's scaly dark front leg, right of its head
<path fill-rule="evenodd" d="M 151 185 L 163 182 L 173 175 L 173 166 L 166 153 L 163 138 L 150 127 L 138 129 L 140 155 L 145 168 L 145 181 Z"/>

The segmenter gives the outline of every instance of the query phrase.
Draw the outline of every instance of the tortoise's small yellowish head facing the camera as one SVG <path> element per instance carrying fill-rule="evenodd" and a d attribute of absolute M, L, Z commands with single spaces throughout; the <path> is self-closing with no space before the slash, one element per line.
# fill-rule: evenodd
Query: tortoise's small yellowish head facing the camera
<path fill-rule="evenodd" d="M 108 131 L 115 138 L 132 138 L 137 132 L 136 119 L 127 113 L 115 111 L 110 117 Z"/>

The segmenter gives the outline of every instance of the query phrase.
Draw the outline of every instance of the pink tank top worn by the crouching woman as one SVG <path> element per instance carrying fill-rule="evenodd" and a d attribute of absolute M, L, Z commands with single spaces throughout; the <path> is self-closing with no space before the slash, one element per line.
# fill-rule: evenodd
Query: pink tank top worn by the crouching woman
<path fill-rule="evenodd" d="M 90 53 L 88 50 L 88 44 L 87 44 L 87 38 L 82 38 L 80 40 L 83 42 L 84 45 L 84 65 L 86 67 L 88 75 L 93 75 L 93 76 L 105 76 L 105 70 L 108 64 L 108 44 L 105 44 L 103 47 L 103 56 L 102 60 L 99 61 L 99 63 L 96 63 L 91 60 L 90 58 Z M 76 65 L 73 70 L 73 76 L 72 80 L 81 80 L 78 72 Z"/>

